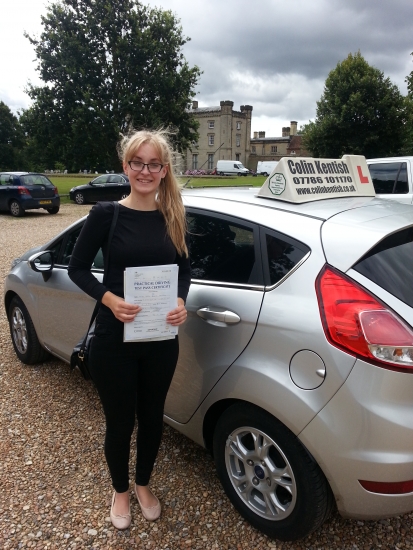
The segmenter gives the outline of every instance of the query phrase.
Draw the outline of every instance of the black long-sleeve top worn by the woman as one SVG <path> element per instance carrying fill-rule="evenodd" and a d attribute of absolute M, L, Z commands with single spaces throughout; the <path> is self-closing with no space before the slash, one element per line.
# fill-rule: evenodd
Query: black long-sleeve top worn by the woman
<path fill-rule="evenodd" d="M 98 202 L 91 209 L 69 262 L 68 273 L 72 281 L 97 301 L 108 290 L 123 298 L 125 267 L 178 264 L 178 297 L 185 301 L 191 281 L 189 258 L 177 253 L 167 234 L 165 219 L 158 210 L 147 212 L 119 205 L 105 285 L 96 279 L 90 268 L 100 247 L 104 258 L 107 257 L 113 213 L 112 202 Z"/>

